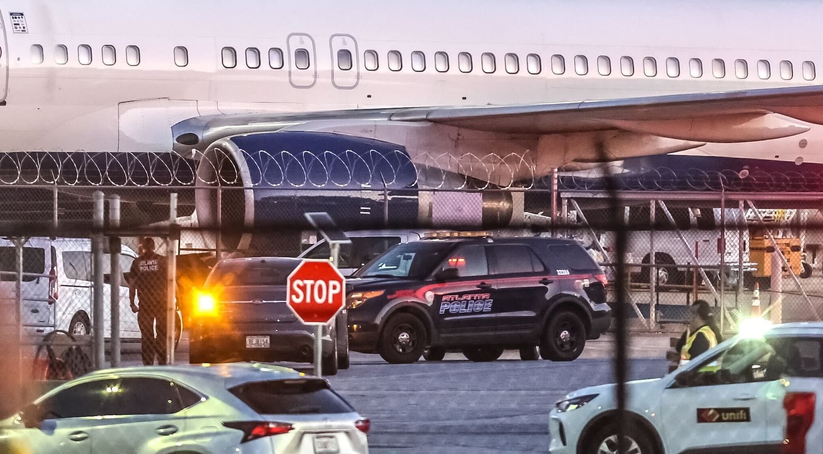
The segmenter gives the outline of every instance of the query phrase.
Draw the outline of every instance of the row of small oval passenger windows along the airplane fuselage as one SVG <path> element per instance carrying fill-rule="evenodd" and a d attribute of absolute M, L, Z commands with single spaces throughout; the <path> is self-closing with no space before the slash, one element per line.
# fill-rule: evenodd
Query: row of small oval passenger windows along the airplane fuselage
<path fill-rule="evenodd" d="M 111 66 L 117 62 L 117 50 L 112 45 L 105 45 L 101 49 L 101 57 L 103 64 Z M 340 49 L 337 51 L 337 68 L 341 71 L 351 71 L 354 67 L 354 58 L 351 51 L 348 49 Z M 398 50 L 390 50 L 387 55 L 387 67 L 390 71 L 398 72 L 403 68 L 402 53 Z M 246 67 L 256 69 L 260 67 L 263 58 L 261 58 L 260 50 L 257 48 L 247 48 L 245 50 Z M 43 46 L 40 44 L 33 44 L 31 46 L 31 61 L 35 64 L 44 63 Z M 92 61 L 92 49 L 88 44 L 81 44 L 77 47 L 77 61 L 81 65 L 90 65 Z M 223 67 L 234 68 L 237 67 L 237 51 L 235 48 L 225 47 L 221 50 L 221 61 Z M 377 71 L 380 67 L 379 55 L 376 50 L 366 50 L 363 53 L 363 67 L 366 71 Z M 426 69 L 425 53 L 416 50 L 411 53 L 412 71 L 424 72 Z M 653 57 L 645 57 L 642 61 L 644 76 L 654 77 L 658 76 L 658 61 Z M 68 49 L 63 44 L 58 44 L 54 47 L 54 63 L 64 65 L 68 63 Z M 137 46 L 126 47 L 126 63 L 129 66 L 137 66 L 140 64 L 140 49 Z M 188 66 L 188 49 L 183 46 L 174 48 L 174 64 L 178 67 Z M 311 56 L 308 49 L 295 49 L 294 58 L 295 68 L 300 70 L 307 70 L 311 67 Z M 280 48 L 268 49 L 268 66 L 272 69 L 282 69 L 284 66 L 283 50 Z M 491 74 L 497 71 L 497 60 L 495 54 L 491 52 L 482 53 L 480 57 L 480 66 L 482 72 Z M 521 71 L 520 58 L 516 53 L 506 53 L 504 55 L 504 69 L 509 74 L 517 74 Z M 666 58 L 664 63 L 665 73 L 669 77 L 681 76 L 681 62 L 678 58 Z M 601 76 L 610 76 L 611 58 L 606 55 L 597 57 L 596 60 L 597 74 Z M 635 75 L 635 60 L 629 56 L 620 58 L 620 72 L 623 76 Z M 692 77 L 704 76 L 703 61 L 700 58 L 690 58 L 688 63 L 688 72 Z M 734 76 L 738 79 L 746 79 L 749 77 L 749 63 L 738 58 L 734 61 Z M 449 53 L 435 52 L 435 71 L 449 72 Z M 472 54 L 467 52 L 458 53 L 458 69 L 460 72 L 472 72 L 474 70 L 474 63 Z M 529 74 L 540 74 L 542 72 L 542 60 L 537 53 L 529 53 L 526 56 L 525 70 Z M 772 76 L 771 63 L 768 60 L 758 60 L 756 63 L 757 76 L 760 79 L 770 79 Z M 662 70 L 661 70 L 662 71 Z M 566 72 L 565 58 L 562 55 L 555 54 L 551 56 L 551 72 L 556 75 L 562 75 Z M 579 76 L 585 76 L 589 72 L 588 58 L 585 55 L 574 56 L 574 73 Z M 805 61 L 801 64 L 801 73 L 803 79 L 813 81 L 816 77 L 815 64 L 813 62 Z M 713 58 L 711 61 L 711 74 L 715 78 L 722 79 L 727 76 L 726 62 L 722 58 Z M 782 60 L 779 63 L 779 76 L 783 80 L 791 80 L 794 78 L 794 67 L 792 62 Z"/>

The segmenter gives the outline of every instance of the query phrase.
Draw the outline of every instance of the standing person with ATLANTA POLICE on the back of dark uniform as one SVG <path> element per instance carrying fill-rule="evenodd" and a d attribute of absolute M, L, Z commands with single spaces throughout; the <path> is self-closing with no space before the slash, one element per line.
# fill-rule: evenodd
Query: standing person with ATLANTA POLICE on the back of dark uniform
<path fill-rule="evenodd" d="M 146 237 L 140 241 L 140 256 L 132 262 L 130 276 L 128 300 L 132 312 L 137 313 L 143 364 L 154 364 L 155 356 L 157 364 L 165 364 L 166 261 L 155 252 L 154 239 Z M 140 300 L 139 308 L 134 303 L 135 294 Z"/>

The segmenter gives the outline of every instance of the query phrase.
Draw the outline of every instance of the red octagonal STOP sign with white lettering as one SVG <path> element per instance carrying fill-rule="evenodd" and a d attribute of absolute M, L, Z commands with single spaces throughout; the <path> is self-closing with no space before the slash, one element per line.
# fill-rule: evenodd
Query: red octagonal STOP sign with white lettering
<path fill-rule="evenodd" d="M 346 279 L 328 260 L 304 260 L 287 285 L 286 303 L 306 324 L 330 322 L 346 300 Z"/>

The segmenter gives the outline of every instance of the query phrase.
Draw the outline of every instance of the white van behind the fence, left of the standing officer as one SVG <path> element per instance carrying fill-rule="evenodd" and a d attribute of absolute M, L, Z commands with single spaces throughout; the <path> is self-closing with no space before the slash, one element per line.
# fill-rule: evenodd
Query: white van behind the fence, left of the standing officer
<path fill-rule="evenodd" d="M 137 254 L 123 246 L 119 258 L 121 271 L 128 273 Z M 104 254 L 105 338 L 111 337 L 110 260 L 109 254 Z M 11 239 L 0 239 L 0 271 L 16 271 L 16 248 Z M 91 332 L 95 320 L 91 310 L 90 239 L 31 238 L 23 247 L 23 272 L 21 317 L 27 334 L 39 336 L 54 329 L 79 335 Z M 4 303 L 14 303 L 15 281 L 13 274 L 0 274 L 0 299 L 4 299 Z M 137 314 L 129 307 L 128 284 L 124 276 L 120 279 L 119 292 L 120 336 L 123 340 L 140 340 Z M 182 319 L 179 318 L 178 327 L 181 326 Z"/>

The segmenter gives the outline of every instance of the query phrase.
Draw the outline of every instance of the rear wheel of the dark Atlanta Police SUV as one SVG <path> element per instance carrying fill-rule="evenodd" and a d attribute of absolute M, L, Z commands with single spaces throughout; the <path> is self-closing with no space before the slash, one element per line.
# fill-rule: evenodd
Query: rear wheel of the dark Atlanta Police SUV
<path fill-rule="evenodd" d="M 549 316 L 546 331 L 540 343 L 542 359 L 573 361 L 583 353 L 586 345 L 586 327 L 576 313 L 561 310 Z"/>

